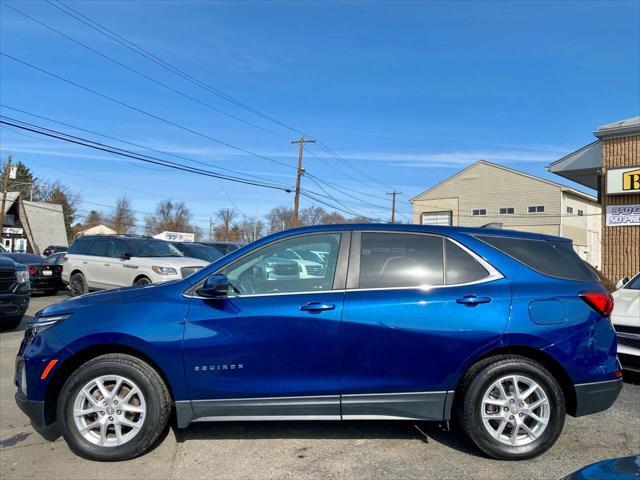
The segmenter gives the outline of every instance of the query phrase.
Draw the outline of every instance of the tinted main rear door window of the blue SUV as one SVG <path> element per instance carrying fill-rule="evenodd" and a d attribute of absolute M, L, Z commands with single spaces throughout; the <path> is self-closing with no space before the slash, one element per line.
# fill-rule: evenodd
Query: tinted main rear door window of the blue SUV
<path fill-rule="evenodd" d="M 359 288 L 442 285 L 442 253 L 438 236 L 363 232 Z"/>

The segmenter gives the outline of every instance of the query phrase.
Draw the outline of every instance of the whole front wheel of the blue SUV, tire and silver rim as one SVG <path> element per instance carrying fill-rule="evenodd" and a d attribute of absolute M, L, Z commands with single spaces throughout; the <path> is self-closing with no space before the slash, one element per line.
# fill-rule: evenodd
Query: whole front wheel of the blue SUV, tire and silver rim
<path fill-rule="evenodd" d="M 57 411 L 71 450 L 100 461 L 146 452 L 170 413 L 169 391 L 158 372 L 123 354 L 97 357 L 76 370 L 62 387 Z"/>

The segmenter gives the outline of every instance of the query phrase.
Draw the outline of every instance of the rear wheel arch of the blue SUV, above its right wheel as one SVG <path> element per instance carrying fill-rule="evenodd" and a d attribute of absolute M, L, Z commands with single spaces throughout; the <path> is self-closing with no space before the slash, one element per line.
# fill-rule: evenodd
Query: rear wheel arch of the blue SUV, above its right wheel
<path fill-rule="evenodd" d="M 469 370 L 471 370 L 479 362 L 499 355 L 515 355 L 525 357 L 529 360 L 533 360 L 534 362 L 539 363 L 547 370 L 549 370 L 551 375 L 553 375 L 553 377 L 560 385 L 560 388 L 562 389 L 562 393 L 565 398 L 567 413 L 572 416 L 575 415 L 577 404 L 576 390 L 573 381 L 571 380 L 571 377 L 569 376 L 565 368 L 560 362 L 558 362 L 548 353 L 526 345 L 504 345 L 485 352 L 481 356 L 475 358 L 474 361 L 465 369 L 456 385 L 453 405 L 454 409 L 457 407 L 458 400 L 462 397 L 461 389 Z"/>

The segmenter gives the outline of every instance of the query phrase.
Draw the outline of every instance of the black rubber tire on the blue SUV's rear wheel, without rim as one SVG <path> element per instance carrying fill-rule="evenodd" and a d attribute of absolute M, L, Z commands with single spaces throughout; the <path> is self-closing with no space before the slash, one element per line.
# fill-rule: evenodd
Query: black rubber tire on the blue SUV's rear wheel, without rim
<path fill-rule="evenodd" d="M 526 445 L 501 443 L 490 435 L 481 417 L 485 392 L 495 381 L 508 375 L 522 375 L 533 380 L 542 388 L 549 402 L 550 416 L 546 428 L 538 438 Z M 461 397 L 458 402 L 458 421 L 471 441 L 490 457 L 499 460 L 533 458 L 551 448 L 562 433 L 566 416 L 562 388 L 546 368 L 526 357 L 501 355 L 478 362 L 469 369 L 459 390 Z M 508 418 L 514 418 L 510 413 L 507 413 Z M 527 418 L 526 414 L 524 418 Z M 507 428 L 511 432 L 514 430 L 513 427 Z"/>

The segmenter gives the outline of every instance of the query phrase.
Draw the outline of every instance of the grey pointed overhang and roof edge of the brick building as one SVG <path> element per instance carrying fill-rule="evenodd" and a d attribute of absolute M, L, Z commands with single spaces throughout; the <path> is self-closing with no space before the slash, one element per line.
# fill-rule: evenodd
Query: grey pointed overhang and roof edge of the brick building
<path fill-rule="evenodd" d="M 547 171 L 597 190 L 598 170 L 602 167 L 602 140 L 640 135 L 640 116 L 607 123 L 593 134 L 598 140 L 547 165 Z"/>

